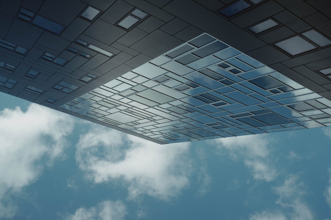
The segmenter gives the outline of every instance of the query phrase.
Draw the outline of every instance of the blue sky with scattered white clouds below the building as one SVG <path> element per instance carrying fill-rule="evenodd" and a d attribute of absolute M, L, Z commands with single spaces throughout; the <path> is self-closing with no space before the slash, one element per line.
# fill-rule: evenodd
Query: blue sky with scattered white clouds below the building
<path fill-rule="evenodd" d="M 158 145 L 0 100 L 0 219 L 331 219 L 331 129 Z"/>

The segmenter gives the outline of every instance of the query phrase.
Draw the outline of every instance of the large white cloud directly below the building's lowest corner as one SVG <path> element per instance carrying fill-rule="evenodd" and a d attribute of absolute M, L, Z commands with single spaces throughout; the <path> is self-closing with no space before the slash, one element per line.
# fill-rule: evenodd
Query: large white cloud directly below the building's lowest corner
<path fill-rule="evenodd" d="M 101 126 L 77 144 L 76 161 L 95 183 L 122 180 L 129 197 L 145 193 L 168 199 L 189 184 L 188 143 L 159 145 Z"/>

